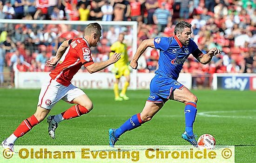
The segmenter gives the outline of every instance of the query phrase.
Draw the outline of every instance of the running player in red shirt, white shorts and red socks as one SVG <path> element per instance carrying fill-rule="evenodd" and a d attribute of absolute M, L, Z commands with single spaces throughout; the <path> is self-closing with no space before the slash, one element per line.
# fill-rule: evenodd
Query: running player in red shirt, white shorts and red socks
<path fill-rule="evenodd" d="M 45 119 L 59 100 L 65 100 L 75 105 L 58 115 L 47 117 L 48 132 L 52 138 L 55 138 L 55 129 L 62 120 L 79 117 L 93 109 L 93 103 L 89 97 L 80 88 L 71 84 L 71 80 L 82 65 L 86 67 L 89 73 L 94 73 L 105 69 L 121 58 L 119 53 L 115 53 L 107 61 L 94 63 L 90 47 L 96 46 L 100 37 L 101 26 L 98 23 L 91 23 L 85 28 L 84 38 L 66 40 L 61 44 L 56 56 L 46 63 L 49 67 L 54 65 L 56 67 L 51 71 L 47 82 L 41 87 L 36 112 L 23 120 L 13 134 L 3 140 L 1 145 L 4 148 L 13 151 L 17 138 L 25 135 Z"/>

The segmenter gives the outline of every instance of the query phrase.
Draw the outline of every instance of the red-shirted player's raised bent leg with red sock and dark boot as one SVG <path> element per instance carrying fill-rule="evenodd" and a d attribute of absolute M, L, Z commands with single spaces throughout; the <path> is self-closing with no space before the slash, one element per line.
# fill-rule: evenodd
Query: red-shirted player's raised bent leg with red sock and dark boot
<path fill-rule="evenodd" d="M 60 114 L 50 115 L 47 117 L 48 132 L 52 138 L 55 138 L 55 130 L 61 121 L 80 117 L 83 114 L 89 113 L 89 111 L 93 109 L 92 101 L 81 89 L 72 84 L 68 87 L 68 91 L 62 100 L 65 100 L 68 103 L 74 103 L 76 105 L 68 108 L 66 111 Z"/>

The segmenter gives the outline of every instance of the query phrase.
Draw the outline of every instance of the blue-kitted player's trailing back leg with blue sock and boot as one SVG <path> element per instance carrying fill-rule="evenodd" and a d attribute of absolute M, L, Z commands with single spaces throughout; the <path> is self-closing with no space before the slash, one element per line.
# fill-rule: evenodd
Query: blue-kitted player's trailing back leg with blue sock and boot
<path fill-rule="evenodd" d="M 145 107 L 141 113 L 137 113 L 129 118 L 124 124 L 122 124 L 117 129 L 109 129 L 109 145 L 114 147 L 115 142 L 118 138 L 127 131 L 131 131 L 141 124 L 148 122 L 153 118 L 153 116 L 163 107 L 163 103 L 153 103 L 146 101 Z"/>

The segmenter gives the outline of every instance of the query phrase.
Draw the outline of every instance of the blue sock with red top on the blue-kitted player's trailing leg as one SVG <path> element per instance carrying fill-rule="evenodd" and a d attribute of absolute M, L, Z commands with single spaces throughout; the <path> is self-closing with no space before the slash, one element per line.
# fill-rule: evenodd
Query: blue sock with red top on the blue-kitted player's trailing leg
<path fill-rule="evenodd" d="M 139 126 L 143 121 L 141 120 L 141 114 L 135 114 L 130 119 L 128 119 L 124 124 L 115 130 L 115 138 L 119 138 L 124 132 L 133 130 Z"/>

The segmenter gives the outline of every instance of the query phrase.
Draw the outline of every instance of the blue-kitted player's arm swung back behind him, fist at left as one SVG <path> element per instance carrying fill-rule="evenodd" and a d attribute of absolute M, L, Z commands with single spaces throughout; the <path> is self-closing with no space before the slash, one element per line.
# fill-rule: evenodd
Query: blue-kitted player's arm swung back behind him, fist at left
<path fill-rule="evenodd" d="M 142 43 L 140 44 L 140 46 L 138 47 L 133 59 L 131 60 L 130 66 L 133 69 L 137 69 L 138 66 L 138 59 L 140 58 L 140 56 L 144 53 L 144 51 L 148 48 L 155 48 L 155 44 L 154 44 L 154 38 L 151 39 L 146 39 L 143 40 Z"/>

